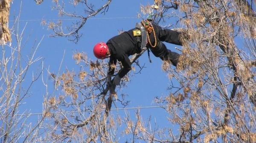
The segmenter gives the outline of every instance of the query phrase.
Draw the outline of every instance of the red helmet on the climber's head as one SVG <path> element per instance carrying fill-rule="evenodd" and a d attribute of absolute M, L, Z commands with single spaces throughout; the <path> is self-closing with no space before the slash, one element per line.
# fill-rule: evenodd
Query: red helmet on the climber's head
<path fill-rule="evenodd" d="M 108 45 L 104 42 L 97 43 L 93 48 L 93 53 L 98 59 L 105 59 L 107 56 Z"/>

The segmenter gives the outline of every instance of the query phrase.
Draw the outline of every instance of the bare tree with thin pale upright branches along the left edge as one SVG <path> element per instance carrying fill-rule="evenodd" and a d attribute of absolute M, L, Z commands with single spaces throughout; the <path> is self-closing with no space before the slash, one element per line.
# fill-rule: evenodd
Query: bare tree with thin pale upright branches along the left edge
<path fill-rule="evenodd" d="M 3 1 L 2 1 L 3 2 Z M 20 17 L 20 16 L 19 16 Z M 10 29 L 12 34 L 12 44 L 1 41 L 0 53 L 0 142 L 38 142 L 39 127 L 45 115 L 39 117 L 34 123 L 28 122 L 30 117 L 26 109 L 25 99 L 32 96 L 33 84 L 41 76 L 41 57 L 36 57 L 35 53 L 40 46 L 40 41 L 35 41 L 29 46 L 23 43 L 26 26 L 20 29 L 19 17 Z M 9 29 L 8 29 L 9 30 Z M 5 40 L 5 39 L 3 39 Z M 5 44 L 6 43 L 6 44 Z M 11 46 L 12 45 L 12 46 Z M 27 50 L 27 54 L 24 51 Z M 39 64 L 39 65 L 38 65 Z M 38 71 L 31 73 L 30 69 L 39 66 Z M 43 66 L 42 66 L 43 67 Z M 38 68 L 38 67 L 37 67 Z"/>

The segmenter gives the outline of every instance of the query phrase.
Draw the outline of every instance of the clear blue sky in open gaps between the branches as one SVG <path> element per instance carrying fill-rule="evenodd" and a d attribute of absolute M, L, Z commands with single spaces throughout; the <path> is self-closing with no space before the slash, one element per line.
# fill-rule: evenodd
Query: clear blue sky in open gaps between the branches
<path fill-rule="evenodd" d="M 58 68 L 65 52 L 60 73 L 65 72 L 66 69 L 74 69 L 75 72 L 79 72 L 79 66 L 76 65 L 72 58 L 73 53 L 76 51 L 84 51 L 88 58 L 96 60 L 93 55 L 93 46 L 100 41 L 107 42 L 108 39 L 117 35 L 119 30 L 125 31 L 134 28 L 135 23 L 141 20 L 136 18 L 137 14 L 140 13 L 140 5 L 147 3 L 153 4 L 153 0 L 113 0 L 105 15 L 99 14 L 87 20 L 84 27 L 80 30 L 83 36 L 78 43 L 73 43 L 66 37 L 49 37 L 52 31 L 46 26 L 42 26 L 41 20 L 50 21 L 61 18 L 58 17 L 57 11 L 51 9 L 51 0 L 44 0 L 40 5 L 37 5 L 33 1 L 24 0 L 21 5 L 20 27 L 25 26 L 27 23 L 24 37 L 29 37 L 29 41 L 26 43 L 26 48 L 24 49 L 24 54 L 29 52 L 28 50 L 32 47 L 35 40 L 41 40 L 44 36 L 36 54 L 37 57 L 43 57 L 44 66 L 49 67 L 50 72 L 58 73 Z M 17 16 L 19 9 L 20 1 L 13 1 L 10 11 L 10 27 L 13 24 L 12 20 L 14 20 L 14 15 Z M 70 10 L 73 9 L 71 8 Z M 63 23 L 70 22 L 72 22 L 72 20 L 63 20 Z M 172 23 L 172 21 L 170 22 Z M 175 23 L 175 21 L 173 21 L 173 23 Z M 15 42 L 13 42 L 13 44 L 15 44 Z M 166 46 L 172 51 L 176 51 L 175 47 L 178 47 L 168 43 L 166 43 Z M 156 106 L 153 101 L 154 97 L 169 94 L 170 91 L 168 91 L 167 88 L 170 84 L 170 80 L 167 74 L 161 69 L 162 61 L 160 58 L 154 57 L 152 53 L 151 60 L 153 63 L 149 63 L 148 55 L 145 52 L 145 54 L 140 57 L 140 63 L 145 63 L 146 68 L 143 69 L 140 74 L 135 74 L 131 77 L 131 82 L 128 83 L 127 87 L 118 91 L 118 95 L 121 93 L 128 95 L 126 100 L 130 100 L 131 102 L 127 107 Z M 35 72 L 38 65 L 33 66 L 30 72 Z M 47 77 L 44 77 L 44 79 L 47 79 Z M 53 86 L 49 88 L 52 89 Z M 26 109 L 32 113 L 40 113 L 42 112 L 43 96 L 46 92 L 41 80 L 38 80 L 38 82 L 32 86 L 31 92 L 31 97 L 25 100 L 26 106 L 23 106 L 23 110 Z M 122 108 L 122 106 L 118 106 L 118 108 Z M 135 112 L 133 111 L 135 110 L 129 110 L 130 114 L 134 114 Z M 113 113 L 114 112 L 116 111 L 113 111 Z M 157 121 L 166 120 L 167 116 L 166 112 L 159 108 L 141 109 L 140 113 L 143 114 L 144 119 L 152 115 L 152 118 L 156 118 Z"/>

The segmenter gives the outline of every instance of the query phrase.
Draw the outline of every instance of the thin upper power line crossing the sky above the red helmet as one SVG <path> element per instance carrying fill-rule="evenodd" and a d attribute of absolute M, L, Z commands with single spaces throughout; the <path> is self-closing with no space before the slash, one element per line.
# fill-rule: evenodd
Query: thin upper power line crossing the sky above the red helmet
<path fill-rule="evenodd" d="M 133 18 L 139 18 L 139 17 L 105 17 L 105 18 L 88 18 L 87 20 L 113 20 L 113 19 L 133 19 Z M 58 21 L 58 20 L 81 20 L 81 18 L 68 18 L 68 19 L 41 19 L 41 20 L 17 20 L 20 22 L 29 22 L 29 21 Z M 9 22 L 14 22 L 16 20 L 9 20 Z"/>

